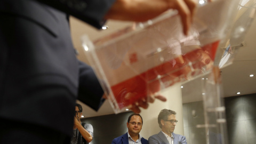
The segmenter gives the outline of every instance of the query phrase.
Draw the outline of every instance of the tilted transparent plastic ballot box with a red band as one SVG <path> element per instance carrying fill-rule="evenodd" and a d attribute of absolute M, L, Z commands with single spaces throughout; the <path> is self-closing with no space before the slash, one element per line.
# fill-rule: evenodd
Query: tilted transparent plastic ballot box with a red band
<path fill-rule="evenodd" d="M 226 37 L 232 7 L 228 0 L 198 6 L 187 36 L 176 11 L 94 42 L 83 36 L 86 57 L 115 113 L 175 83 L 209 73 Z"/>

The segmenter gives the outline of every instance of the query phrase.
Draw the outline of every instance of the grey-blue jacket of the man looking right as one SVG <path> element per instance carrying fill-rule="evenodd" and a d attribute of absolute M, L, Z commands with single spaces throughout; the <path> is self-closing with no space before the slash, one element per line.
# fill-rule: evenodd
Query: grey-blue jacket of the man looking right
<path fill-rule="evenodd" d="M 186 141 L 186 137 L 183 136 L 183 135 L 179 135 L 179 134 L 175 134 L 175 133 L 172 133 L 173 135 L 173 144 L 187 144 L 187 141 Z M 150 136 L 148 138 L 148 143 L 149 144 L 155 144 L 155 143 L 158 143 L 158 144 L 168 144 L 168 140 L 167 138 L 165 137 L 165 135 L 163 134 L 163 132 L 159 132 L 158 134 L 154 134 L 152 136 Z"/>

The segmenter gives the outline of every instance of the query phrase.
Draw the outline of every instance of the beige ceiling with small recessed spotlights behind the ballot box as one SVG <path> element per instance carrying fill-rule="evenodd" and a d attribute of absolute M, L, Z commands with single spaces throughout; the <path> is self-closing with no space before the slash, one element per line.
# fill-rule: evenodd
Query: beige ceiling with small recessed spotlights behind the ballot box
<path fill-rule="evenodd" d="M 74 46 L 78 50 L 78 59 L 87 62 L 81 45 L 81 36 L 86 34 L 93 41 L 99 37 L 103 37 L 113 33 L 117 29 L 132 25 L 131 22 L 108 21 L 106 25 L 109 27 L 107 30 L 97 30 L 87 25 L 86 23 L 71 17 L 71 36 L 73 38 Z M 232 97 L 236 96 L 237 92 L 240 95 L 256 93 L 256 20 L 252 22 L 252 26 L 248 30 L 243 46 L 240 47 L 235 54 L 233 64 L 221 69 L 223 96 Z M 254 74 L 254 77 L 249 77 Z M 201 79 L 195 79 L 186 84 L 182 88 L 183 103 L 199 101 L 202 99 L 201 91 L 197 90 L 201 87 Z M 81 103 L 78 101 L 78 103 Z M 83 115 L 85 117 L 93 117 L 100 115 L 114 114 L 108 101 L 103 103 L 99 111 L 94 111 L 83 103 Z"/>

